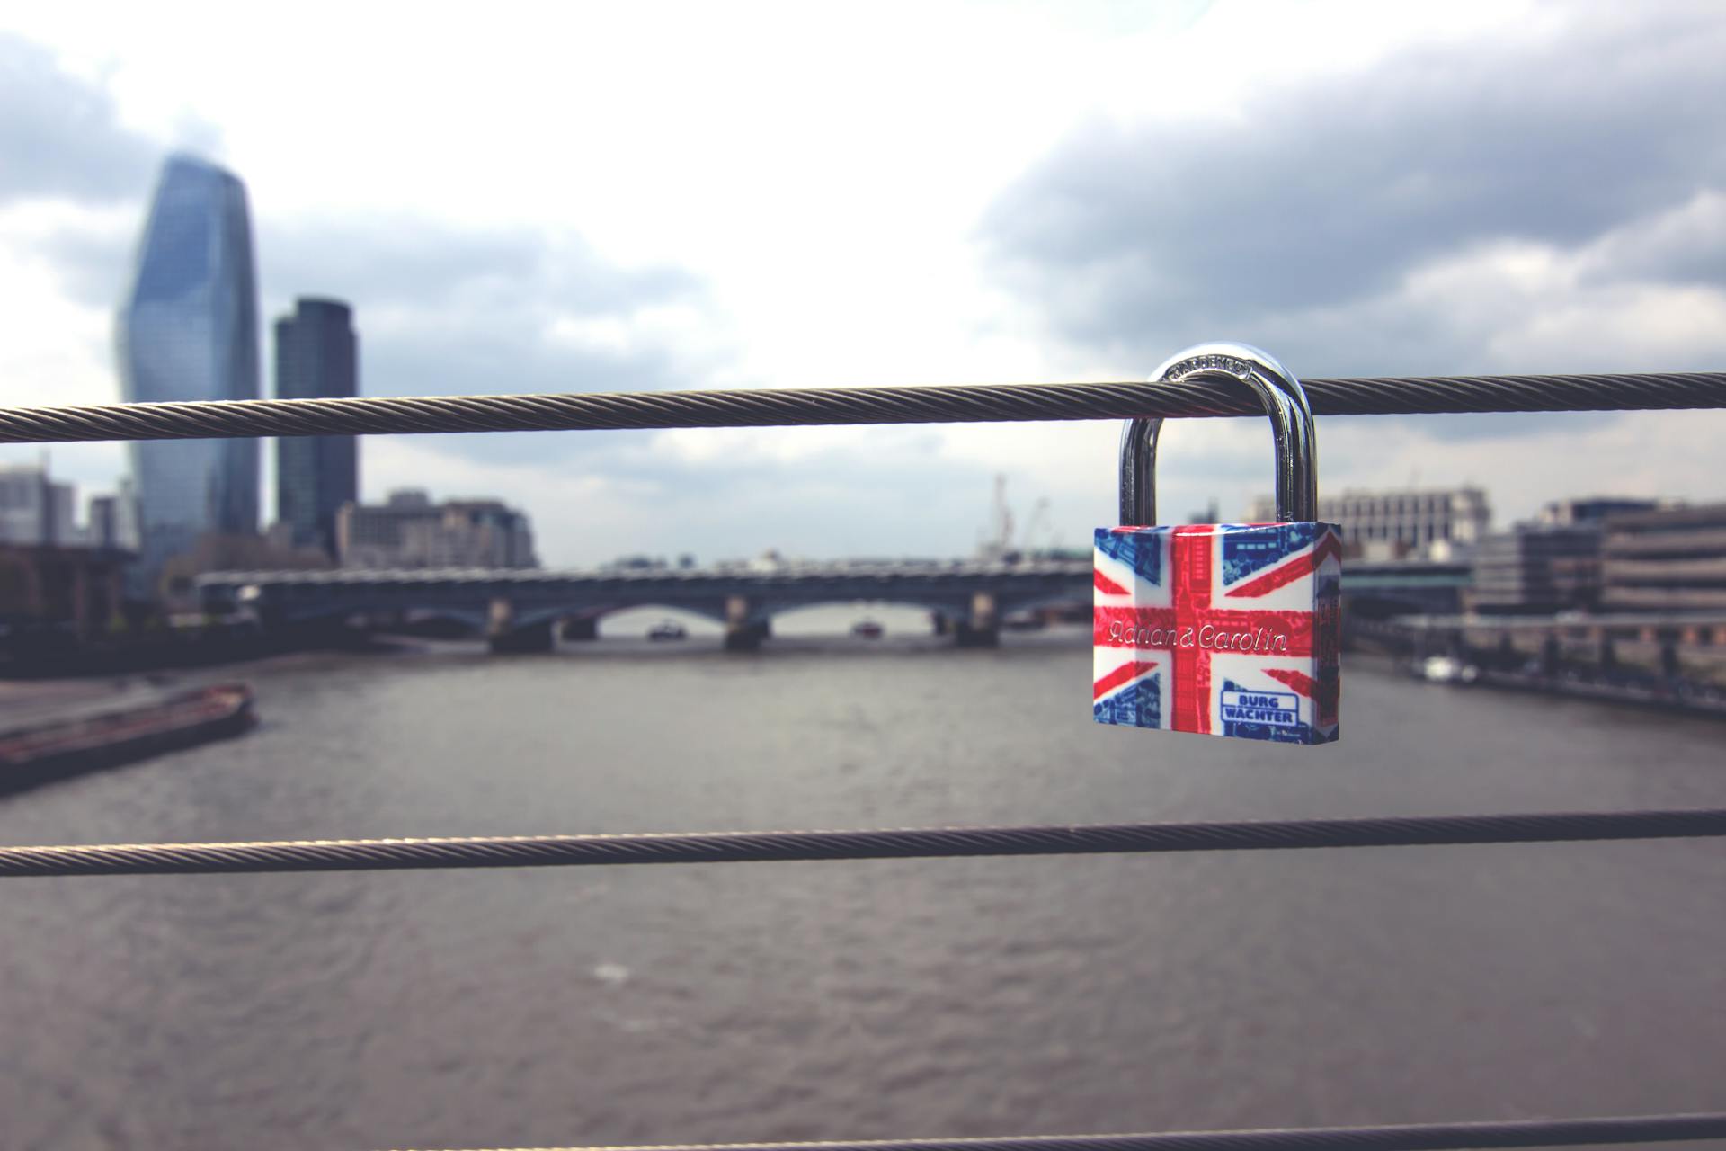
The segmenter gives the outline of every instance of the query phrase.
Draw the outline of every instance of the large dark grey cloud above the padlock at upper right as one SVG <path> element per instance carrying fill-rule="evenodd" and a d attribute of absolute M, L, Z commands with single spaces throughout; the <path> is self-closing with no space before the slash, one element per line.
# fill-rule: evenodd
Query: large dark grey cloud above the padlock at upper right
<path fill-rule="evenodd" d="M 1581 250 L 1726 190 L 1717 9 L 1578 12 L 1533 48 L 1410 52 L 1267 95 L 1239 123 L 1089 126 L 992 205 L 982 238 L 1058 335 L 1146 368 L 1220 333 L 1308 374 L 1477 368 L 1477 333 L 1374 305 L 1436 257 Z M 1641 266 L 1717 269 L 1686 245 Z"/>

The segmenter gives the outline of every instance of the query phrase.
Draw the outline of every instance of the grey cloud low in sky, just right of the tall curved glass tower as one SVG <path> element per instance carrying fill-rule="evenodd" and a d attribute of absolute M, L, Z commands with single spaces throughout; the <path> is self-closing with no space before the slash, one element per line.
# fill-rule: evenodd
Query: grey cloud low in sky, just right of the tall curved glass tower
<path fill-rule="evenodd" d="M 620 267 L 566 235 L 463 230 L 432 221 L 300 221 L 264 228 L 266 316 L 297 295 L 354 307 L 366 395 L 646 392 L 699 387 L 708 368 L 663 340 L 625 347 L 557 342 L 557 319 L 616 321 L 640 309 L 702 307 L 704 288 L 677 267 Z M 266 342 L 269 326 L 266 324 Z M 623 462 L 640 437 L 566 433 L 430 437 L 437 452 L 499 464 L 578 457 Z"/>

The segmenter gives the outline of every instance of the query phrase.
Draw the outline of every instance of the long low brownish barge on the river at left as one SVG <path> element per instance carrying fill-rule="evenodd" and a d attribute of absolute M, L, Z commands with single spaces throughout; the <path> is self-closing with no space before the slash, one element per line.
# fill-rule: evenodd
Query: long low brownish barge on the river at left
<path fill-rule="evenodd" d="M 0 792 L 238 735 L 255 721 L 252 689 L 217 683 L 12 728 L 0 732 Z"/>

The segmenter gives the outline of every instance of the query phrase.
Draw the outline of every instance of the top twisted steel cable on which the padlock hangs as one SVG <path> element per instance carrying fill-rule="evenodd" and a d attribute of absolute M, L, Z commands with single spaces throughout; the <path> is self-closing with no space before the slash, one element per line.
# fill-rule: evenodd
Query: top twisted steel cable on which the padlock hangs
<path fill-rule="evenodd" d="M 1726 407 L 1726 373 L 1307 380 L 1320 416 Z M 0 409 L 0 443 L 1262 416 L 1236 381 L 185 400 Z"/>

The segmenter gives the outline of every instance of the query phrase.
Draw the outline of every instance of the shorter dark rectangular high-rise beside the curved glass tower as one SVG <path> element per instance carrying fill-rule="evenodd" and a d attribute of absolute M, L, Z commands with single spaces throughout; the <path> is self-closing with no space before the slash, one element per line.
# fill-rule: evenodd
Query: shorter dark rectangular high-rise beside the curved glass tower
<path fill-rule="evenodd" d="M 300 299 L 276 321 L 276 397 L 359 395 L 359 340 L 340 300 Z M 276 440 L 276 519 L 293 547 L 337 554 L 335 514 L 359 499 L 357 437 Z"/>

